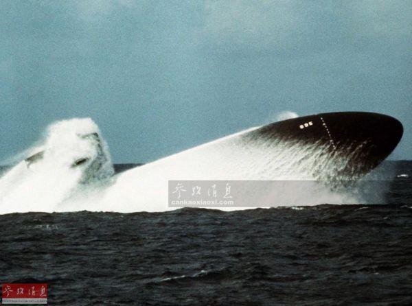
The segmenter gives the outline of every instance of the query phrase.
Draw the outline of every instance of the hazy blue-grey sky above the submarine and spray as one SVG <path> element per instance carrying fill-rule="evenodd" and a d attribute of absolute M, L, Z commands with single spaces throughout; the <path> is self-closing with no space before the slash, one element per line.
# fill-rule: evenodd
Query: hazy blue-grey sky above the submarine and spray
<path fill-rule="evenodd" d="M 412 159 L 412 1 L 0 1 L 0 161 L 91 117 L 146 163 L 299 115 L 384 113 Z"/>

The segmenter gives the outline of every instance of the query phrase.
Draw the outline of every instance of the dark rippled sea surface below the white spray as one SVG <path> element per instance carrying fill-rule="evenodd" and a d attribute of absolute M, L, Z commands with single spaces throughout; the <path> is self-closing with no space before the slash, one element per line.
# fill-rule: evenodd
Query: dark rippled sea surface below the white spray
<path fill-rule="evenodd" d="M 49 305 L 412 305 L 412 162 L 379 172 L 376 204 L 0 215 L 0 283 L 48 283 Z"/>

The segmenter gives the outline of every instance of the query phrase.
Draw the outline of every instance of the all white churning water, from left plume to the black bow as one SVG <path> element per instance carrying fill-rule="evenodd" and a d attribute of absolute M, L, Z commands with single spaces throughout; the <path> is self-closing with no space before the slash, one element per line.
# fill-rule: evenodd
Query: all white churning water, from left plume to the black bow
<path fill-rule="evenodd" d="M 27 150 L 26 157 L 43 152 L 40 157 L 21 161 L 0 178 L 0 213 L 166 211 L 172 209 L 169 180 L 284 180 L 282 188 L 271 191 L 273 206 L 359 203 L 350 193 L 314 181 L 329 179 L 332 163 L 336 170 L 323 148 L 247 137 L 254 129 L 113 176 L 98 126 L 91 119 L 58 121 L 40 145 Z M 308 184 L 296 190 L 288 180 Z"/>

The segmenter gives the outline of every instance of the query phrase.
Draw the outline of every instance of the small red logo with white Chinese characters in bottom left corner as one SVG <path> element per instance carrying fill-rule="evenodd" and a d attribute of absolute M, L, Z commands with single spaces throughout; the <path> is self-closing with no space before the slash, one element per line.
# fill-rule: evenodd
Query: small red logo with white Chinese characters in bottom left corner
<path fill-rule="evenodd" d="M 47 283 L 3 283 L 1 298 L 5 304 L 47 304 Z"/>

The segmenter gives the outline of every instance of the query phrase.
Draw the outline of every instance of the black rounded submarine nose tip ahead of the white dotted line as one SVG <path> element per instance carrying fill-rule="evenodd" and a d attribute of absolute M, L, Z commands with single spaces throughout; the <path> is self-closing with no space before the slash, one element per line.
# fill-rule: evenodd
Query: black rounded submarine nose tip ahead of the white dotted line
<path fill-rule="evenodd" d="M 347 112 L 319 115 L 336 143 L 336 150 L 356 152 L 353 162 L 365 172 L 381 163 L 396 148 L 403 134 L 398 119 L 377 113 Z"/>

